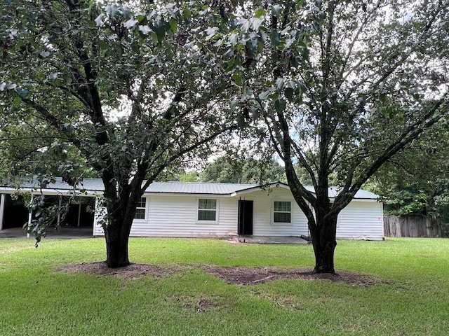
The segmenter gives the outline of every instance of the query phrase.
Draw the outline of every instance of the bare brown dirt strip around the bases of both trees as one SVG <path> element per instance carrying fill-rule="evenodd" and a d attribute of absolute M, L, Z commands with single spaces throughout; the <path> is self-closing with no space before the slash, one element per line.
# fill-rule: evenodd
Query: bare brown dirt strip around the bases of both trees
<path fill-rule="evenodd" d="M 99 276 L 115 275 L 123 279 L 137 279 L 140 276 L 154 276 L 162 278 L 179 273 L 187 265 L 172 267 L 156 267 L 147 264 L 131 264 L 126 267 L 108 268 L 105 262 L 82 262 L 80 264 L 66 265 L 60 268 L 62 272 L 85 272 Z M 195 267 L 195 266 L 188 266 Z M 209 274 L 223 279 L 230 284 L 255 285 L 267 281 L 279 279 L 307 279 L 327 280 L 340 283 L 349 283 L 358 286 L 370 287 L 377 283 L 389 283 L 373 276 L 356 274 L 345 271 L 337 271 L 335 274 L 314 274 L 307 269 L 274 269 L 274 268 L 249 268 L 249 267 L 215 267 L 209 265 L 198 266 Z"/>

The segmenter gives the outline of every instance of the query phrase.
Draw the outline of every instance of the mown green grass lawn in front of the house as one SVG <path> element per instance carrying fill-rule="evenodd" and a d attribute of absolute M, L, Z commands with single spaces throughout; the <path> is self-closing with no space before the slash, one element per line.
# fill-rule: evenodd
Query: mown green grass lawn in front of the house
<path fill-rule="evenodd" d="M 448 335 L 449 239 L 339 241 L 337 269 L 390 283 L 228 285 L 195 265 L 311 267 L 309 245 L 130 239 L 155 279 L 58 272 L 105 260 L 103 239 L 0 239 L 0 335 Z M 206 302 L 206 306 L 201 304 Z"/>

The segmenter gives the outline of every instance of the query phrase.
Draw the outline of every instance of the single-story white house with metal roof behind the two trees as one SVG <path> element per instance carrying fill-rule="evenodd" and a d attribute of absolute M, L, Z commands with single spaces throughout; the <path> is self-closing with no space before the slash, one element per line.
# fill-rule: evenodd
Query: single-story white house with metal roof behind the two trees
<path fill-rule="evenodd" d="M 101 196 L 101 179 L 84 179 L 79 188 L 78 202 L 73 205 L 73 223 L 81 220 L 90 204 L 95 209 L 88 225 L 93 236 L 104 232 L 98 224 L 98 205 L 95 197 Z M 67 197 L 73 188 L 57 179 L 46 188 L 23 185 L 20 190 L 34 194 Z M 310 187 L 310 190 L 313 190 Z M 11 193 L 17 189 L 0 186 L 0 230 L 6 228 L 5 214 Z M 335 196 L 330 188 L 330 197 Z M 76 214 L 76 209 L 78 214 Z M 67 216 L 69 217 L 69 216 Z M 22 222 L 23 224 L 23 222 Z M 21 226 L 21 225 L 20 225 Z M 182 183 L 154 182 L 140 200 L 130 232 L 134 237 L 222 237 L 236 235 L 300 237 L 309 235 L 307 220 L 290 193 L 287 184 L 269 183 L 267 186 L 233 183 Z M 360 190 L 354 200 L 343 209 L 337 221 L 337 239 L 384 238 L 382 203 L 377 195 Z"/>

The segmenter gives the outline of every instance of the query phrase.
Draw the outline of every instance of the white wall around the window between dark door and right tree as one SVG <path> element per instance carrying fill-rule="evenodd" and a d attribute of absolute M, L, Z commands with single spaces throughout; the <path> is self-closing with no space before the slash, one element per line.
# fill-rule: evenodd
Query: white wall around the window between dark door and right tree
<path fill-rule="evenodd" d="M 297 206 L 290 190 L 273 188 L 270 192 L 257 191 L 241 195 L 241 200 L 254 201 L 253 236 L 299 237 L 307 235 L 307 219 Z M 292 223 L 273 223 L 273 202 L 290 201 Z"/>

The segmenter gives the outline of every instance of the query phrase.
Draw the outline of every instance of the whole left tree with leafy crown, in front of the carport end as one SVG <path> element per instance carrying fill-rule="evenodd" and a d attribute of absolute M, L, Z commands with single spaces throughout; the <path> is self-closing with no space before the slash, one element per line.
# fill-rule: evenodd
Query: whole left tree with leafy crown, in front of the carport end
<path fill-rule="evenodd" d="M 2 123 L 36 125 L 27 137 L 53 137 L 41 153 L 69 146 L 98 172 L 109 267 L 129 264 L 149 184 L 243 120 L 224 103 L 234 87 L 220 65 L 229 55 L 208 38 L 217 22 L 220 8 L 196 2 L 1 1 Z"/>

